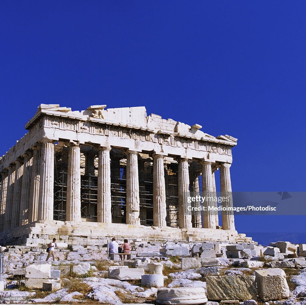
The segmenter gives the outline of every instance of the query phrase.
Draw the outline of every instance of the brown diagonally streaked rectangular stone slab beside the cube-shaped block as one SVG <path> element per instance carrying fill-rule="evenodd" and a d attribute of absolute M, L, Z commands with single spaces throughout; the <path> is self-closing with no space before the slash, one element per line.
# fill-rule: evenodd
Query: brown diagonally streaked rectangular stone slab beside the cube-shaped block
<path fill-rule="evenodd" d="M 207 276 L 207 297 L 211 300 L 256 299 L 255 276 Z"/>

